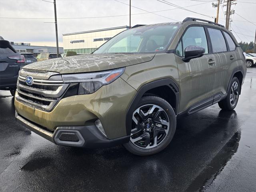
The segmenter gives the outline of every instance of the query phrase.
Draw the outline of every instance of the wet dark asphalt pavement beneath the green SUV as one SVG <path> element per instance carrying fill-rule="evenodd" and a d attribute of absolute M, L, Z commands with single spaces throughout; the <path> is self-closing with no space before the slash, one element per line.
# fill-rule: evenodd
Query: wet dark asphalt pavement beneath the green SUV
<path fill-rule="evenodd" d="M 238 105 L 218 104 L 178 120 L 170 145 L 153 156 L 122 146 L 57 146 L 14 120 L 0 91 L 0 191 L 256 191 L 256 67 Z"/>

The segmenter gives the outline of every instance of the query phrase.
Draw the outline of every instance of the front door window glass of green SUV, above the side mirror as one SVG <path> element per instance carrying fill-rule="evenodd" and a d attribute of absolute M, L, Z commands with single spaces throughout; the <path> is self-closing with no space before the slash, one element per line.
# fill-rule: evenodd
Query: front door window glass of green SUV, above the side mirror
<path fill-rule="evenodd" d="M 205 49 L 205 53 L 208 53 L 208 44 L 206 39 L 206 34 L 204 27 L 190 27 L 186 30 L 184 36 L 182 37 L 183 52 L 186 47 L 190 45 L 200 46 Z"/>

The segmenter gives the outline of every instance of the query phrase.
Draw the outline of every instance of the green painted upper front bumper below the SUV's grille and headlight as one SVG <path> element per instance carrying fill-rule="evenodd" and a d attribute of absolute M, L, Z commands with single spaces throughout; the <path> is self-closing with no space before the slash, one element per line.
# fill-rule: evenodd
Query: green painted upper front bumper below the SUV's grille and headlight
<path fill-rule="evenodd" d="M 62 98 L 46 112 L 14 100 L 17 113 L 46 131 L 58 127 L 91 126 L 100 119 L 108 139 L 126 136 L 126 112 L 136 90 L 118 78 L 88 95 Z M 16 93 L 17 96 L 17 93 Z"/>

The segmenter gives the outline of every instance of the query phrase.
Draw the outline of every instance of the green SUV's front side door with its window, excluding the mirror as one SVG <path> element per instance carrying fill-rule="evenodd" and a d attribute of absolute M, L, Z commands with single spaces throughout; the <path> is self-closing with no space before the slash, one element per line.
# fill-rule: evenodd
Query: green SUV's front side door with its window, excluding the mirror
<path fill-rule="evenodd" d="M 206 30 L 204 26 L 187 28 L 175 51 L 180 78 L 179 112 L 188 110 L 188 113 L 193 113 L 212 105 L 215 66 L 214 56 L 209 54 Z M 184 62 L 182 58 L 188 46 L 203 47 L 205 54 L 200 58 L 191 59 L 190 62 Z"/>

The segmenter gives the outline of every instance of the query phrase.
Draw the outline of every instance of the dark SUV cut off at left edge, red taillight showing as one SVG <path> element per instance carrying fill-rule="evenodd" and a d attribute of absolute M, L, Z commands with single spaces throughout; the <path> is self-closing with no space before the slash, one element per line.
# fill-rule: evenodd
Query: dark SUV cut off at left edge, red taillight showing
<path fill-rule="evenodd" d="M 15 95 L 18 72 L 24 65 L 24 56 L 0 36 L 0 90 L 10 90 Z"/>

